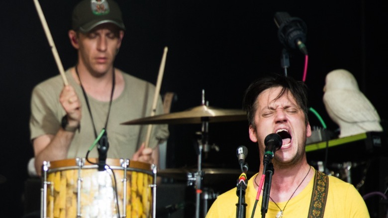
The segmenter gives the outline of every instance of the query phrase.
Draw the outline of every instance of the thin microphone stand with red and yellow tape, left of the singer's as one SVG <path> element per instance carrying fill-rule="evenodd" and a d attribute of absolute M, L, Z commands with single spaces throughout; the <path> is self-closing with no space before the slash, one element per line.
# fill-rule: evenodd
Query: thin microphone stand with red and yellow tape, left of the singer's
<path fill-rule="evenodd" d="M 237 181 L 237 196 L 238 196 L 238 203 L 236 204 L 237 211 L 236 211 L 236 218 L 245 218 L 246 217 L 246 208 L 247 204 L 245 203 L 245 191 L 247 189 L 247 175 L 246 172 L 248 171 L 248 164 L 244 163 L 241 165 L 241 175 Z"/>

